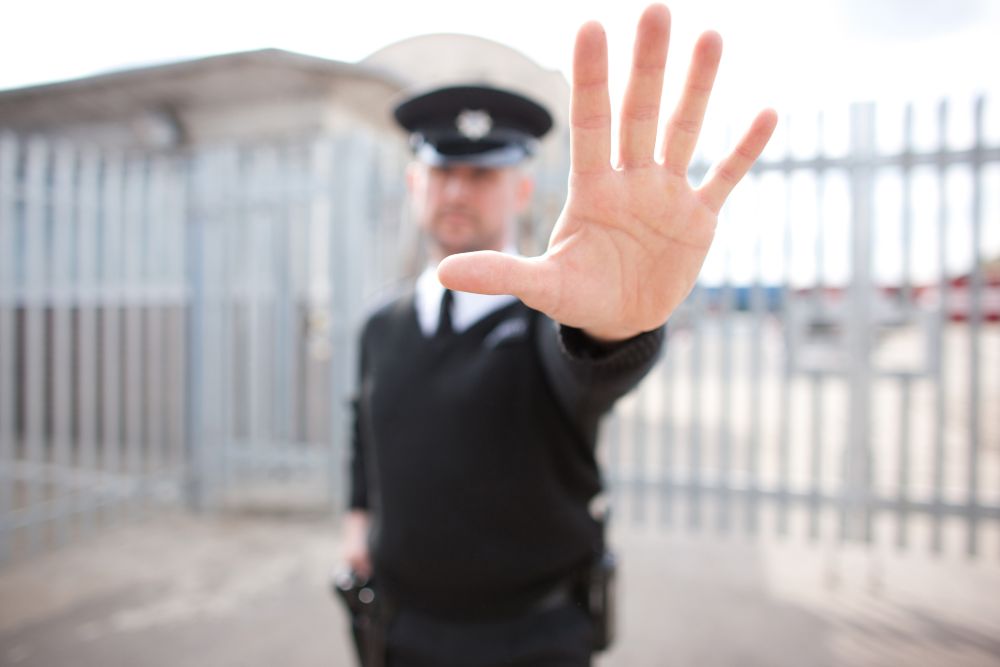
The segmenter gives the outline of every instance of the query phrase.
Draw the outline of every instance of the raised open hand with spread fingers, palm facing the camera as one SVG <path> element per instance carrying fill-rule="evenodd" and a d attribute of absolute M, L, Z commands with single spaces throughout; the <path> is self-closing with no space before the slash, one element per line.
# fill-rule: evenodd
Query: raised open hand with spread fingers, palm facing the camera
<path fill-rule="evenodd" d="M 639 20 L 621 110 L 620 161 L 611 164 L 611 104 L 604 30 L 587 23 L 573 54 L 569 196 L 544 255 L 452 255 L 438 276 L 451 289 L 513 294 L 562 324 L 622 340 L 663 324 L 691 291 L 719 209 L 767 144 L 777 116 L 761 112 L 698 188 L 687 180 L 722 54 L 718 34 L 695 46 L 677 109 L 655 154 L 670 13 Z"/>

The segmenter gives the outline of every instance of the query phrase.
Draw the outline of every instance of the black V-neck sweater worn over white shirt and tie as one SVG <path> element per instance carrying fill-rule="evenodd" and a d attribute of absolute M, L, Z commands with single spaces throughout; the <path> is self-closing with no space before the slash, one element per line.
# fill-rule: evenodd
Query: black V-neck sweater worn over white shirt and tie
<path fill-rule="evenodd" d="M 426 338 L 412 295 L 362 335 L 351 506 L 400 605 L 468 617 L 529 604 L 599 548 L 601 416 L 663 330 L 603 348 L 520 302 Z"/>

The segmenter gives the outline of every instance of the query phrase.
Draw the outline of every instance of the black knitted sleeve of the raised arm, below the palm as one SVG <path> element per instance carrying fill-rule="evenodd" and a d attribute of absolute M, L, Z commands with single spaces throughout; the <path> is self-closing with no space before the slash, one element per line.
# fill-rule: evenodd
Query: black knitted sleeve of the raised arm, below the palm
<path fill-rule="evenodd" d="M 574 419 L 599 419 L 635 387 L 659 358 L 666 327 L 618 343 L 542 318 L 537 345 L 556 398 Z"/>

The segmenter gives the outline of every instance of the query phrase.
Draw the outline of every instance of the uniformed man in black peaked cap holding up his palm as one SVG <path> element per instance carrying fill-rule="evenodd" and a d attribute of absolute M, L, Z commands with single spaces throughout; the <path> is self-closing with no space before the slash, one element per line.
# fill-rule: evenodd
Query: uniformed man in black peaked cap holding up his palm
<path fill-rule="evenodd" d="M 669 21 L 662 5 L 640 19 L 616 165 L 603 30 L 581 28 L 569 196 L 541 257 L 510 249 L 531 196 L 519 164 L 548 112 L 484 86 L 396 109 L 432 266 L 364 327 L 345 535 L 352 568 L 391 601 L 390 667 L 590 664 L 576 592 L 603 549 L 599 421 L 655 361 L 775 124 L 761 113 L 692 188 L 721 41 L 698 41 L 656 151 Z"/>

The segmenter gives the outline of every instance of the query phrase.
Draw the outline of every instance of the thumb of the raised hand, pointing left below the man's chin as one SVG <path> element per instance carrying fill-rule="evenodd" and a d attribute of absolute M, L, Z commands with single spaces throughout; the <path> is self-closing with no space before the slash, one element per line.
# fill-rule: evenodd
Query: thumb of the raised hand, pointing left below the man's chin
<path fill-rule="evenodd" d="M 536 259 L 492 250 L 446 257 L 438 265 L 438 280 L 448 289 L 478 294 L 513 294 L 525 303 L 537 303 L 544 294 L 544 277 Z"/>

